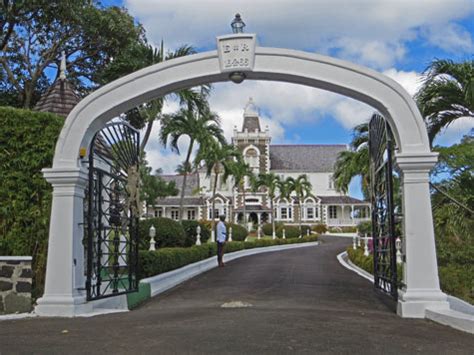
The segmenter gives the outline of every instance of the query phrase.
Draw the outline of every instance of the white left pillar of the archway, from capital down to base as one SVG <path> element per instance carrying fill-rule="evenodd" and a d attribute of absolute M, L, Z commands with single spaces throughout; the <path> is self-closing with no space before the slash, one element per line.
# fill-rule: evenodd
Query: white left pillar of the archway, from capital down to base
<path fill-rule="evenodd" d="M 43 169 L 53 185 L 48 260 L 43 297 L 35 312 L 73 317 L 92 310 L 86 304 L 84 278 L 84 191 L 88 175 L 81 168 Z"/>

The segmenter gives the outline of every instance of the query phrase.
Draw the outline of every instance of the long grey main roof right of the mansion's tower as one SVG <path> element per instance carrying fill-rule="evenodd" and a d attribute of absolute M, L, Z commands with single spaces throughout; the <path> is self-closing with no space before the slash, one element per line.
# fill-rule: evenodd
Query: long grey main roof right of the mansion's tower
<path fill-rule="evenodd" d="M 270 145 L 270 170 L 332 172 L 344 144 Z"/>

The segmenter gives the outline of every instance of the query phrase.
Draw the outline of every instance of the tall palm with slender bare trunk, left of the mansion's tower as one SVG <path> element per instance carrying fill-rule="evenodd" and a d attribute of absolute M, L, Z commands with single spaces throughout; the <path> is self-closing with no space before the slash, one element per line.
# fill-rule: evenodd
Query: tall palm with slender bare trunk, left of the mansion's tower
<path fill-rule="evenodd" d="M 189 146 L 186 159 L 183 162 L 185 169 L 183 171 L 183 184 L 181 186 L 179 202 L 179 220 L 183 218 L 184 193 L 194 144 L 202 145 L 210 137 L 214 137 L 219 142 L 225 141 L 220 127 L 220 118 L 217 114 L 211 112 L 208 107 L 202 112 L 182 108 L 177 113 L 162 117 L 160 141 L 165 147 L 169 140 L 171 149 L 179 154 L 178 142 L 183 136 L 189 137 Z"/>

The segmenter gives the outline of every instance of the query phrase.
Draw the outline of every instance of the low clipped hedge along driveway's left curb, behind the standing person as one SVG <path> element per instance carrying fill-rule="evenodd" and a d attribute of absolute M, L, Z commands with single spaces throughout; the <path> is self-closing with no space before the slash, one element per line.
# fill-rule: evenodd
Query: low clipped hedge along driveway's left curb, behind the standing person
<path fill-rule="evenodd" d="M 315 242 L 317 235 L 303 237 L 301 239 L 260 239 L 253 242 L 228 242 L 225 246 L 225 252 L 260 248 L 272 245 L 294 244 Z M 175 270 L 185 265 L 207 259 L 217 254 L 217 245 L 207 243 L 190 248 L 163 248 L 156 251 L 140 251 L 139 256 L 139 278 L 155 276 L 167 271 Z"/>

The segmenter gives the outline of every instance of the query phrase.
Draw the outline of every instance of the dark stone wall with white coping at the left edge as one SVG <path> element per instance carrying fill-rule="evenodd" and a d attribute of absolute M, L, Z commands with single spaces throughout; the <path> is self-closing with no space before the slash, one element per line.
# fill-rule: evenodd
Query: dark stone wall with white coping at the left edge
<path fill-rule="evenodd" d="M 0 314 L 31 311 L 31 257 L 0 256 Z"/>

